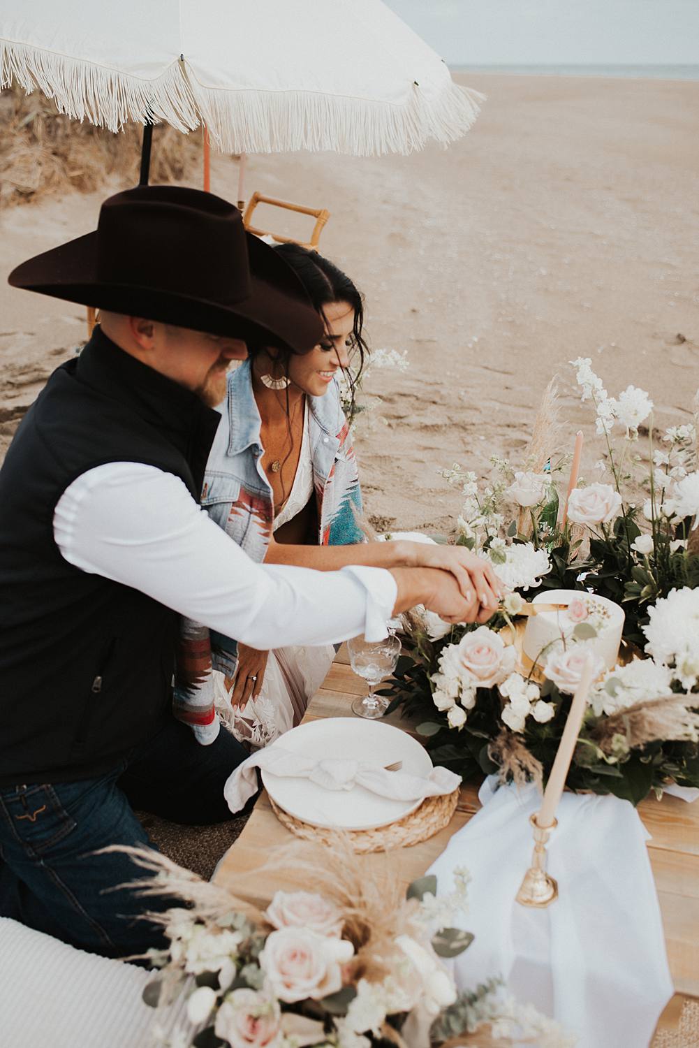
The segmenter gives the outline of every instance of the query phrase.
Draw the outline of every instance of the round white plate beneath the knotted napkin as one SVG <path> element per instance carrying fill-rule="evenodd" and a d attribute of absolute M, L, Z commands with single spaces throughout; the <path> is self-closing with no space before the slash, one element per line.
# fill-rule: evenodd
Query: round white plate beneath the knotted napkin
<path fill-rule="evenodd" d="M 279 740 L 291 749 L 318 760 L 345 758 L 383 768 L 402 761 L 402 771 L 427 779 L 432 771 L 428 751 L 400 728 L 380 721 L 328 717 L 291 728 Z M 308 779 L 288 779 L 262 772 L 262 782 L 275 804 L 311 826 L 343 830 L 373 830 L 388 826 L 417 808 L 418 802 L 392 801 L 363 786 L 327 790 Z"/>

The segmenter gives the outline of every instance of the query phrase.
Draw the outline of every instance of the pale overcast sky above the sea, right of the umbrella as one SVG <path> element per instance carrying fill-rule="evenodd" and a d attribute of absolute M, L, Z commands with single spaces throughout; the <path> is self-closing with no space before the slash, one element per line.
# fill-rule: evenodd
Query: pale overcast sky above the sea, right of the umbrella
<path fill-rule="evenodd" d="M 450 65 L 699 64 L 699 0 L 386 0 Z"/>

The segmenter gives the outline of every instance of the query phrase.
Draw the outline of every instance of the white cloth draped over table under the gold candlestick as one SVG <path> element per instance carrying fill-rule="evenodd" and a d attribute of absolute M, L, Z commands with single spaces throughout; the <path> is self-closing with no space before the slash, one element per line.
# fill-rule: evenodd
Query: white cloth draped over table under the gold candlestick
<path fill-rule="evenodd" d="M 439 894 L 455 867 L 472 874 L 463 924 L 475 941 L 455 961 L 457 985 L 500 974 L 578 1038 L 577 1048 L 646 1048 L 673 995 L 649 838 L 635 808 L 614 796 L 564 793 L 548 844 L 559 898 L 547 909 L 515 896 L 531 865 L 534 786 L 481 788 L 484 807 L 433 864 Z"/>

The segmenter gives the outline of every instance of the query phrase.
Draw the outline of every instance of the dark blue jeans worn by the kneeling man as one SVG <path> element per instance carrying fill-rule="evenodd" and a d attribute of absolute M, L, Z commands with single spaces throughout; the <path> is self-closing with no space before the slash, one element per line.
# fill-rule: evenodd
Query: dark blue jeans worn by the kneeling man
<path fill-rule="evenodd" d="M 189 825 L 232 818 L 223 784 L 246 757 L 228 732 L 200 746 L 173 719 L 96 779 L 0 787 L 0 916 L 107 957 L 162 946 L 143 913 L 181 900 L 139 898 L 121 886 L 146 871 L 128 855 L 95 852 L 153 847 L 133 808 Z"/>

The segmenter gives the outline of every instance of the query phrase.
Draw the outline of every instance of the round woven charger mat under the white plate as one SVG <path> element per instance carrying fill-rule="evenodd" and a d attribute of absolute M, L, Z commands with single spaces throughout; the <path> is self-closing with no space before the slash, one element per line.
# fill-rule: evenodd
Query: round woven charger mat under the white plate
<path fill-rule="evenodd" d="M 372 851 L 390 851 L 392 848 L 408 848 L 419 845 L 420 842 L 439 833 L 449 825 L 456 811 L 459 801 L 458 788 L 453 793 L 443 796 L 427 798 L 415 811 L 403 815 L 388 826 L 378 826 L 374 830 L 347 830 L 346 835 L 355 852 L 363 854 Z M 325 826 L 311 826 L 294 815 L 289 815 L 269 798 L 269 803 L 280 823 L 304 840 L 315 840 L 318 844 L 331 844 L 337 836 L 337 830 Z"/>

